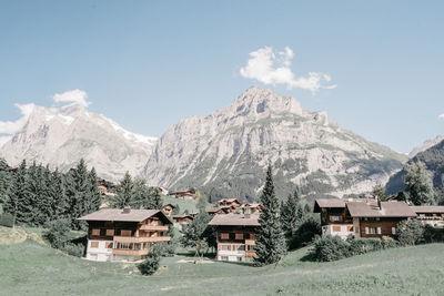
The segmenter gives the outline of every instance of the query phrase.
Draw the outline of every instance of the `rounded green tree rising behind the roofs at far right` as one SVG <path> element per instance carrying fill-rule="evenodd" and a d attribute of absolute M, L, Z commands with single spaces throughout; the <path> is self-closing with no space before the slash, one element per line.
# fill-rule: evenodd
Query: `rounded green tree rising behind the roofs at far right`
<path fill-rule="evenodd" d="M 432 177 L 424 163 L 407 164 L 405 171 L 405 187 L 412 203 L 414 205 L 435 204 Z"/>

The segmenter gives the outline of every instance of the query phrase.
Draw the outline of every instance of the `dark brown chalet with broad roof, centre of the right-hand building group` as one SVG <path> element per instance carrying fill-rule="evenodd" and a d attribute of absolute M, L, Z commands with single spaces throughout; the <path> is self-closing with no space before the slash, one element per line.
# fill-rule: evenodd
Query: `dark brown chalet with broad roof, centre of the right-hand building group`
<path fill-rule="evenodd" d="M 403 220 L 416 217 L 416 213 L 405 203 L 397 201 L 347 202 L 345 217 L 353 220 L 355 237 L 382 237 L 396 234 L 396 225 Z"/>

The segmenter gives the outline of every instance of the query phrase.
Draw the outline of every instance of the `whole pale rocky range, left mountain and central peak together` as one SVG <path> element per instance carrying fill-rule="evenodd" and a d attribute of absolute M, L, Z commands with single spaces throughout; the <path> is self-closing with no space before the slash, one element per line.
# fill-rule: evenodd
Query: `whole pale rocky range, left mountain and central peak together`
<path fill-rule="evenodd" d="M 11 165 L 26 159 L 62 171 L 84 157 L 111 181 L 129 171 L 151 185 L 245 201 L 259 196 L 269 164 L 280 196 L 297 187 L 305 196 L 342 197 L 385 183 L 407 160 L 341 129 L 325 112 L 259 86 L 205 118 L 181 120 L 160 139 L 125 131 L 78 104 L 34 106 L 0 156 Z"/>

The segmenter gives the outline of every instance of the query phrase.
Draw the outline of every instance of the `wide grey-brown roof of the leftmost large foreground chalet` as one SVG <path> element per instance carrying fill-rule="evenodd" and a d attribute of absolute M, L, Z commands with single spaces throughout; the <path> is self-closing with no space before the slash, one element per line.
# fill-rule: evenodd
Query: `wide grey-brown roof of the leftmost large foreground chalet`
<path fill-rule="evenodd" d="M 78 220 L 142 222 L 154 215 L 160 215 L 163 220 L 171 223 L 171 221 L 160 210 L 130 210 L 129 213 L 124 213 L 121 208 L 102 208 Z"/>

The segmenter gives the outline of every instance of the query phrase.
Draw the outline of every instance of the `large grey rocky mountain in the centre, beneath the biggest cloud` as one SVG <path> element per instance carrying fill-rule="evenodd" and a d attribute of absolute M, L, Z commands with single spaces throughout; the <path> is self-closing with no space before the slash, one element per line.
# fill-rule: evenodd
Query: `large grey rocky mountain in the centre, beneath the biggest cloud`
<path fill-rule="evenodd" d="M 191 116 L 159 140 L 144 174 L 150 184 L 198 187 L 213 200 L 258 197 L 265 166 L 281 196 L 370 191 L 402 167 L 405 155 L 371 143 L 309 112 L 289 96 L 253 86 L 226 109 Z"/>

